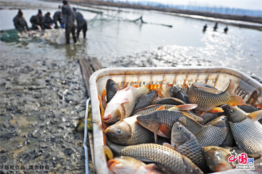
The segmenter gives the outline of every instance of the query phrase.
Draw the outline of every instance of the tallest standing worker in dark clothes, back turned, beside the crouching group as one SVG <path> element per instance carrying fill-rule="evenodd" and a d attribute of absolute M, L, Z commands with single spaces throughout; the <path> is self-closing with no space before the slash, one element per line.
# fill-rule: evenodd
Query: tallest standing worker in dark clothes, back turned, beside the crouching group
<path fill-rule="evenodd" d="M 76 42 L 74 24 L 76 16 L 74 10 L 68 5 L 66 0 L 63 0 L 62 14 L 62 28 L 65 28 L 66 43 L 70 43 L 70 33 L 72 33 L 74 42 Z"/>

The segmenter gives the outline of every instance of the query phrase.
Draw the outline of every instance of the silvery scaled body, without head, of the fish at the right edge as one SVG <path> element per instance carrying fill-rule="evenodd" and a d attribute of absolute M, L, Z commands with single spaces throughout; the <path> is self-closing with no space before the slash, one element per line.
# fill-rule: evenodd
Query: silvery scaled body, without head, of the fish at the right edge
<path fill-rule="evenodd" d="M 247 154 L 262 156 L 262 126 L 258 121 L 245 118 L 241 122 L 229 121 L 236 144 Z M 252 131 L 252 133 L 250 133 Z"/>

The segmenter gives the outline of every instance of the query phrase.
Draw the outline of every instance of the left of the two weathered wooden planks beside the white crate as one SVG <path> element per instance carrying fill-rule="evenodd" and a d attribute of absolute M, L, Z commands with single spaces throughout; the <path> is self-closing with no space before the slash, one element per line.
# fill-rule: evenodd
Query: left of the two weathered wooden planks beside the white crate
<path fill-rule="evenodd" d="M 79 63 L 82 69 L 82 74 L 84 78 L 84 82 L 86 85 L 86 94 L 87 97 L 90 97 L 90 92 L 89 92 L 89 78 L 93 74 L 93 68 L 91 67 L 89 61 L 86 58 L 80 58 Z"/>

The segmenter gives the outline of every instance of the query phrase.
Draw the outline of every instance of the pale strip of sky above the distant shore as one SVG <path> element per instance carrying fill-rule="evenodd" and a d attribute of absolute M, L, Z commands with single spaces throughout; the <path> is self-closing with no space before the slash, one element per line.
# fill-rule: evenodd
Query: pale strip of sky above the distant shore
<path fill-rule="evenodd" d="M 126 1 L 126 0 L 120 0 Z M 132 0 L 128 0 L 132 1 Z M 207 1 L 194 1 L 194 0 L 146 0 L 155 1 L 163 4 L 174 5 L 193 5 L 193 6 L 209 6 L 209 7 L 229 7 L 229 8 L 241 8 L 248 10 L 262 10 L 262 0 L 207 0 Z"/>

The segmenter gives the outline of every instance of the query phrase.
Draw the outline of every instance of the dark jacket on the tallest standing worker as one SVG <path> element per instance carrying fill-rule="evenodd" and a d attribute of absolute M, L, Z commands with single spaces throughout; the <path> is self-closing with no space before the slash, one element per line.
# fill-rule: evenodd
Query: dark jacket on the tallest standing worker
<path fill-rule="evenodd" d="M 76 17 L 74 10 L 69 5 L 65 5 L 62 7 L 62 14 L 62 24 L 65 24 L 65 27 L 73 26 Z"/>

